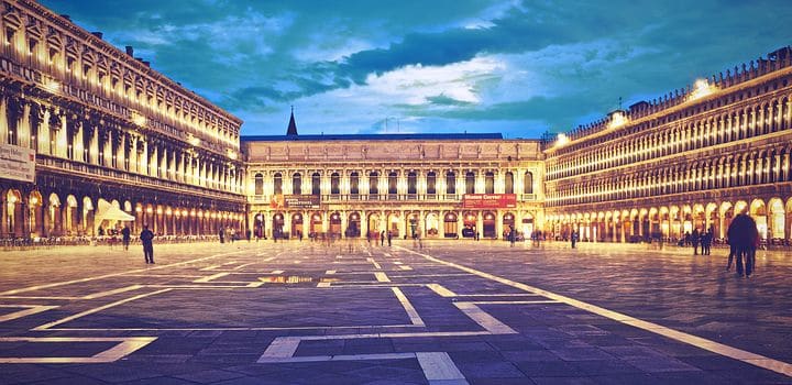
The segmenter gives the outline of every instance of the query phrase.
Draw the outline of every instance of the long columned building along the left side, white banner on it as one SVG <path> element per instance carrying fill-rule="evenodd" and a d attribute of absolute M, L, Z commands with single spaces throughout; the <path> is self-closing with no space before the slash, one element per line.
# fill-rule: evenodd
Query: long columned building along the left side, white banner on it
<path fill-rule="evenodd" d="M 3 238 L 94 235 L 107 204 L 135 231 L 242 226 L 241 120 L 32 0 L 0 13 L 0 151 L 35 153 L 0 178 Z"/>

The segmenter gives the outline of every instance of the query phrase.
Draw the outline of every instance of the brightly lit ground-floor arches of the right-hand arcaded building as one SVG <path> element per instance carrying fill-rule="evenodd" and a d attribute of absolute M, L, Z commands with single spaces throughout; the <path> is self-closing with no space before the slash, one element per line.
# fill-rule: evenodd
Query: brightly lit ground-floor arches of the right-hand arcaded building
<path fill-rule="evenodd" d="M 713 230 L 716 239 L 727 237 L 737 213 L 748 213 L 757 222 L 763 240 L 792 240 L 792 198 L 708 201 L 591 212 L 549 213 L 546 229 L 566 238 L 578 232 L 581 240 L 635 242 L 648 239 L 679 240 L 697 229 Z"/>

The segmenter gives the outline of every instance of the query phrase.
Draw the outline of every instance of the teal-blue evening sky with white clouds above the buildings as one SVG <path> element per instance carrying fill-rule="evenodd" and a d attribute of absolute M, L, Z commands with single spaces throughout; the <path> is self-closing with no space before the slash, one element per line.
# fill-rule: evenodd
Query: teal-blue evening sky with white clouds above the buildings
<path fill-rule="evenodd" d="M 538 138 L 792 44 L 792 1 L 43 0 L 242 134 Z M 387 123 L 387 128 L 386 128 Z"/>

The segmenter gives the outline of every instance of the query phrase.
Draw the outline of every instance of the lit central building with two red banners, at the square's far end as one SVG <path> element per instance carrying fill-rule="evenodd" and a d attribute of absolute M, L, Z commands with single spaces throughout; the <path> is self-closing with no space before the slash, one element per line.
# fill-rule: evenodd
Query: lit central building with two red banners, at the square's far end
<path fill-rule="evenodd" d="M 510 227 L 530 233 L 543 221 L 539 141 L 295 131 L 243 136 L 242 145 L 248 221 L 261 237 L 502 238 Z M 482 194 L 514 205 L 465 202 Z"/>

